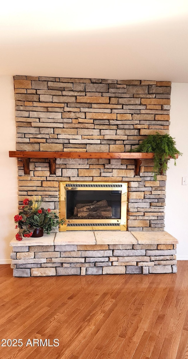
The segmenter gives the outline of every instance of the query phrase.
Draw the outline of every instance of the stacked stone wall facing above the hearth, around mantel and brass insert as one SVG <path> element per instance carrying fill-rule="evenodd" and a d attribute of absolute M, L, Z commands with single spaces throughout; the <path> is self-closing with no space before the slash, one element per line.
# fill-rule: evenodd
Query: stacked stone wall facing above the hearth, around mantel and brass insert
<path fill-rule="evenodd" d="M 14 76 L 16 150 L 125 152 L 149 134 L 169 133 L 168 81 L 72 79 Z M 166 176 L 153 181 L 153 161 L 57 159 L 50 175 L 47 159 L 30 159 L 24 176 L 18 159 L 19 205 L 41 195 L 58 211 L 59 181 L 128 181 L 128 230 L 164 230 Z"/>

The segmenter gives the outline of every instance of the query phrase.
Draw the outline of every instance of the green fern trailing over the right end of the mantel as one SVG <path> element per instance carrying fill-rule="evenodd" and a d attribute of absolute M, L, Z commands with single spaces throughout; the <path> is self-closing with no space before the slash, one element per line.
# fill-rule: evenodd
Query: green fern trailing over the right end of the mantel
<path fill-rule="evenodd" d="M 168 160 L 170 156 L 174 158 L 175 154 L 182 155 L 175 147 L 175 141 L 170 135 L 160 135 L 156 132 L 156 135 L 149 135 L 142 143 L 131 152 L 154 152 L 154 181 L 156 181 L 157 174 L 167 171 Z"/>

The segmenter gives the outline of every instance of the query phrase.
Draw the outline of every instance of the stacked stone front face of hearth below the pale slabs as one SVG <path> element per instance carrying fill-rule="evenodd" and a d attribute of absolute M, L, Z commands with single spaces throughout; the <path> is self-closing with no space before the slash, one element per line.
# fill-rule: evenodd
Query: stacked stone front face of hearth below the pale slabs
<path fill-rule="evenodd" d="M 176 244 L 16 246 L 13 276 L 177 272 Z"/>

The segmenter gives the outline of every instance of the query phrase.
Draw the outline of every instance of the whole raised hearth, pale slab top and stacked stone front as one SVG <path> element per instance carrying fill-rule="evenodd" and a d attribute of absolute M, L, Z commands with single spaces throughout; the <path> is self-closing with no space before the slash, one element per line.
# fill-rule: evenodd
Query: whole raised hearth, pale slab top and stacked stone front
<path fill-rule="evenodd" d="M 58 232 L 10 242 L 15 277 L 176 273 L 167 232 Z"/>

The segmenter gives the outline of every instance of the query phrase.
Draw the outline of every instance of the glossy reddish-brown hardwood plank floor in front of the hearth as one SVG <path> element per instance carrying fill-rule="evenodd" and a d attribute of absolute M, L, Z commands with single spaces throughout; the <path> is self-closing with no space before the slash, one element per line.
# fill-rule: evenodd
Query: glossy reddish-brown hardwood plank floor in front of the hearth
<path fill-rule="evenodd" d="M 0 265 L 0 288 L 0 341 L 23 341 L 0 358 L 188 359 L 188 261 L 177 274 L 34 278 Z"/>

